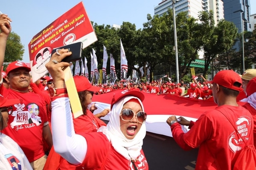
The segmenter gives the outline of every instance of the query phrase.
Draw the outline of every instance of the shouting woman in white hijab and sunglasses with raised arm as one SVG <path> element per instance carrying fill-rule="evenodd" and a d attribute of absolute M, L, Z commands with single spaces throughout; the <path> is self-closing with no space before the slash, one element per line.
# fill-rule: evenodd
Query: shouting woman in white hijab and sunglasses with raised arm
<path fill-rule="evenodd" d="M 61 49 L 53 54 L 46 67 L 55 88 L 65 88 L 64 73 L 69 66 L 61 59 L 71 52 Z M 75 134 L 67 94 L 52 98 L 52 138 L 55 152 L 71 164 L 90 170 L 148 170 L 142 150 L 145 119 L 140 91 L 116 91 L 111 102 L 110 121 L 95 133 Z M 81 166 L 82 165 L 82 166 Z"/>

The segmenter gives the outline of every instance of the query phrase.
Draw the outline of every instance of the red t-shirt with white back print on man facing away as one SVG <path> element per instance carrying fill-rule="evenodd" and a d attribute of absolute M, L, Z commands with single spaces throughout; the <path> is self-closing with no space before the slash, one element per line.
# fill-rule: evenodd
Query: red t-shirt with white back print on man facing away
<path fill-rule="evenodd" d="M 221 113 L 227 115 L 248 145 L 253 144 L 252 116 L 242 106 L 222 105 L 203 113 L 187 133 L 179 123 L 171 126 L 172 135 L 185 150 L 199 147 L 195 170 L 232 170 L 245 144 Z M 250 136 L 250 137 L 249 137 Z M 214 156 L 214 157 L 213 157 Z"/>

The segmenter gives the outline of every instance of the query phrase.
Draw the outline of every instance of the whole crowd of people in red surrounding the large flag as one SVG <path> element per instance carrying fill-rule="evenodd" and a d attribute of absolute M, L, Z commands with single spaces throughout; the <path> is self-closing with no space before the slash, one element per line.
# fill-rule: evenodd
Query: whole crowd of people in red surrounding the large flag
<path fill-rule="evenodd" d="M 0 66 L 3 66 L 11 19 L 0 14 Z M 192 99 L 213 98 L 218 105 L 196 122 L 170 116 L 166 123 L 184 150 L 199 147 L 196 170 L 232 170 L 241 150 L 256 145 L 256 70 L 239 75 L 219 71 L 211 82 L 192 78 L 181 83 L 117 82 L 92 85 L 84 76 L 74 76 L 83 114 L 74 118 L 64 82 L 61 62 L 72 52 L 61 49 L 45 65 L 51 77 L 33 83 L 24 63 L 10 63 L 0 76 L 0 169 L 15 170 L 148 170 L 142 149 L 146 134 L 145 93 L 170 94 Z M 95 94 L 116 89 L 111 108 L 93 114 Z M 246 98 L 237 103 L 244 91 Z M 101 119 L 109 114 L 106 125 Z M 180 125 L 189 126 L 184 133 Z M 235 127 L 235 128 L 234 128 Z M 239 131 L 239 132 L 238 132 Z M 245 142 L 246 143 L 245 143 Z M 254 147 L 253 147 L 254 148 Z M 249 165 L 248 165 L 249 166 Z M 255 164 L 253 169 L 255 169 Z"/>

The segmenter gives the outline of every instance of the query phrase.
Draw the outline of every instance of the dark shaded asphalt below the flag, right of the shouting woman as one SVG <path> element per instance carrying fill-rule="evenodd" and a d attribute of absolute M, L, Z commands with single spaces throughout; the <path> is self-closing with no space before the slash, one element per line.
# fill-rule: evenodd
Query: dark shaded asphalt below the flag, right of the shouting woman
<path fill-rule="evenodd" d="M 149 170 L 195 170 L 198 149 L 185 151 L 172 137 L 147 132 L 143 151 Z"/>

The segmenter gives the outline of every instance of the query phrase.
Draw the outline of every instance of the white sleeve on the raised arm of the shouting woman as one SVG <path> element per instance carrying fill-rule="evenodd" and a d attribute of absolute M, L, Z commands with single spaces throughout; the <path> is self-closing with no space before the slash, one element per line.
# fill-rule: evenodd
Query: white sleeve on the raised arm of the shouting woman
<path fill-rule="evenodd" d="M 68 97 L 52 101 L 52 139 L 56 153 L 71 164 L 81 164 L 87 152 L 86 139 L 75 134 Z"/>

